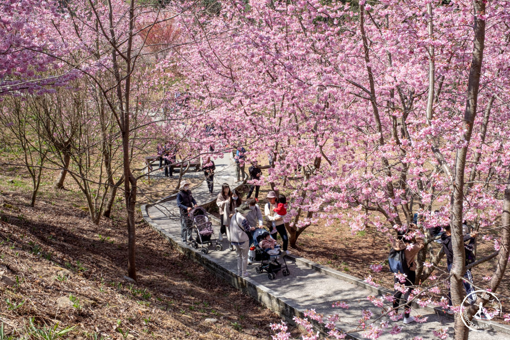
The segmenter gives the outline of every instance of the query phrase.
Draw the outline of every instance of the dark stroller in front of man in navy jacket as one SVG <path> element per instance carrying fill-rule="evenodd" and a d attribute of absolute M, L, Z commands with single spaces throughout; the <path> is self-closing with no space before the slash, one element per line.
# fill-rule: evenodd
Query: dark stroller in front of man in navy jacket
<path fill-rule="evenodd" d="M 191 220 L 191 228 L 189 231 L 195 233 L 195 239 L 191 241 L 191 246 L 198 249 L 203 254 L 209 252 L 208 246 L 212 246 L 213 242 L 216 245 L 216 250 L 223 250 L 223 246 L 218 243 L 214 238 L 213 224 L 211 223 L 207 212 L 204 208 L 197 206 L 189 212 L 189 219 Z"/>

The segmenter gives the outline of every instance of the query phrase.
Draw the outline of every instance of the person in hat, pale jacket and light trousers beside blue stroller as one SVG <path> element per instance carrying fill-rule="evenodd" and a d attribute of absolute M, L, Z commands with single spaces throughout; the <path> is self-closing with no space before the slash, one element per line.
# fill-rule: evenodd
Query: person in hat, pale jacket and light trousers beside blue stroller
<path fill-rule="evenodd" d="M 237 275 L 241 277 L 247 277 L 247 264 L 248 264 L 248 235 L 247 232 L 250 230 L 248 220 L 246 220 L 246 214 L 250 212 L 250 208 L 247 204 L 241 204 L 236 208 L 236 213 L 230 220 L 228 226 L 228 241 L 236 248 L 237 253 Z"/>

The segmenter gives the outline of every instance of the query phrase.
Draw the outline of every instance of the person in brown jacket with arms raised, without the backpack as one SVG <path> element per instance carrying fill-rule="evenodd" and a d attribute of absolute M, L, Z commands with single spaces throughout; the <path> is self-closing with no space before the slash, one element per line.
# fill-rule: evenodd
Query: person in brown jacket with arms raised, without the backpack
<path fill-rule="evenodd" d="M 407 302 L 407 300 L 409 299 L 409 294 L 411 293 L 412 287 L 415 285 L 416 281 L 416 255 L 425 246 L 425 242 L 420 237 L 406 240 L 405 232 L 397 232 L 397 238 L 392 241 L 392 246 L 396 251 L 404 250 L 404 257 L 408 270 L 406 273 L 395 275 L 395 286 L 401 285 L 401 283 L 404 284 L 405 294 L 402 300 L 403 303 L 405 303 L 404 324 L 410 324 L 414 322 L 415 319 L 414 317 L 410 316 L 411 302 Z M 395 289 L 393 296 L 395 297 L 395 300 L 393 301 L 393 308 L 395 311 L 398 311 L 400 300 L 402 298 L 402 292 L 398 289 Z"/>

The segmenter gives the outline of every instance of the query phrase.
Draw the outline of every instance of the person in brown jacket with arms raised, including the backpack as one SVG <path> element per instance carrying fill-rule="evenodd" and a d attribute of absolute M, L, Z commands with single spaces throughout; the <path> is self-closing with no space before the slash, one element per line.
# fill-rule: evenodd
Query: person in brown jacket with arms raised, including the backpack
<path fill-rule="evenodd" d="M 407 230 L 406 230 L 407 231 Z M 411 313 L 411 302 L 407 302 L 409 294 L 412 291 L 412 286 L 415 285 L 416 281 L 416 255 L 423 249 L 425 242 L 420 237 L 415 237 L 411 240 L 405 238 L 406 232 L 397 231 L 397 238 L 392 241 L 392 251 L 388 258 L 390 263 L 390 270 L 394 274 L 404 274 L 405 281 L 402 275 L 395 275 L 395 284 L 404 284 L 406 291 L 402 298 L 402 292 L 395 290 L 393 296 L 393 308 L 398 311 L 400 307 L 400 300 L 404 303 L 404 324 L 410 324 L 415 321 L 415 318 L 410 316 Z"/>

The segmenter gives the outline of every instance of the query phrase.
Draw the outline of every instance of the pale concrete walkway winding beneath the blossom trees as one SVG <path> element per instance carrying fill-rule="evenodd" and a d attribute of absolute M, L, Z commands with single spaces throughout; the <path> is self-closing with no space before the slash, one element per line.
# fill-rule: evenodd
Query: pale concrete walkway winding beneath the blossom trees
<path fill-rule="evenodd" d="M 215 195 L 208 192 L 206 182 L 196 188 L 192 188 L 193 196 L 199 205 L 211 203 L 216 199 L 217 194 L 221 190 L 221 184 L 226 182 L 235 188 L 235 164 L 230 153 L 225 153 L 223 158 L 214 160 L 216 164 L 215 174 Z M 228 242 L 223 241 L 222 251 L 214 250 L 210 247 L 207 255 L 199 253 L 181 242 L 181 226 L 179 220 L 179 211 L 177 210 L 174 197 L 163 199 L 155 205 L 142 206 L 142 214 L 145 220 L 158 230 L 169 241 L 175 244 L 184 252 L 192 254 L 193 257 L 201 263 L 207 263 L 209 268 L 222 272 L 218 274 L 233 285 L 246 288 L 252 287 L 251 290 L 245 289 L 254 298 L 261 302 L 264 300 L 262 296 L 266 294 L 267 299 L 276 299 L 277 302 L 265 303 L 273 310 L 279 312 L 282 316 L 291 318 L 292 315 L 300 315 L 304 310 L 315 308 L 317 312 L 329 315 L 339 313 L 341 321 L 336 326 L 341 331 L 351 331 L 356 328 L 361 319 L 363 309 L 371 310 L 374 318 L 380 314 L 380 308 L 375 307 L 367 300 L 369 295 L 377 295 L 384 293 L 371 287 L 363 280 L 352 277 L 350 275 L 338 272 L 325 266 L 319 266 L 311 261 L 300 257 L 286 256 L 287 265 L 290 275 L 284 277 L 282 272 L 276 274 L 275 280 L 270 280 L 267 274 L 257 274 L 255 271 L 256 264 L 248 266 L 249 277 L 246 279 L 238 277 L 237 259 L 235 252 L 228 250 Z M 219 225 L 215 226 L 216 235 L 218 235 Z M 331 304 L 336 301 L 344 301 L 349 305 L 348 309 L 333 308 Z M 279 310 L 272 306 L 284 305 Z M 423 339 L 435 339 L 433 331 L 440 328 L 447 329 L 449 336 L 453 335 L 453 320 L 445 316 L 438 315 L 438 312 L 431 307 L 413 308 L 412 315 L 421 315 L 428 317 L 428 321 L 423 324 L 413 323 L 403 325 L 402 321 L 392 322 L 388 318 L 384 318 L 390 323 L 389 328 L 393 325 L 402 326 L 402 332 L 397 335 L 391 335 L 386 331 L 381 335 L 380 339 L 412 339 L 419 336 Z M 367 321 L 369 324 L 370 321 Z M 379 322 L 377 322 L 377 325 Z M 350 333 L 352 338 L 365 338 L 362 333 Z M 507 339 L 510 337 L 510 328 L 504 325 L 495 325 L 495 328 L 484 332 L 470 332 L 470 339 Z"/>

